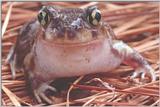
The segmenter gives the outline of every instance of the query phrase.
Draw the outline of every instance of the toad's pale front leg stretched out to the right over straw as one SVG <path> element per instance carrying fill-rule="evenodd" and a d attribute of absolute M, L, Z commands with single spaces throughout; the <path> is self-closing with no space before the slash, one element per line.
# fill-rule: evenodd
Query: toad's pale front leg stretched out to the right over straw
<path fill-rule="evenodd" d="M 143 81 L 145 76 L 147 76 L 151 79 L 151 81 L 155 81 L 156 76 L 154 70 L 137 51 L 118 40 L 115 40 L 112 46 L 113 53 L 122 58 L 124 64 L 135 68 L 135 72 L 130 77 L 131 80 L 135 79 L 137 76 L 140 76 L 141 81 Z"/>

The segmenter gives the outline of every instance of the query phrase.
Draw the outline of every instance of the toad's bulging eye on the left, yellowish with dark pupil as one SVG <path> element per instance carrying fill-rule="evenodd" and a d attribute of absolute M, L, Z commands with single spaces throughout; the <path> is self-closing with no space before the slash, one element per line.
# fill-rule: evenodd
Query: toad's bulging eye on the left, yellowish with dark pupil
<path fill-rule="evenodd" d="M 38 21 L 43 27 L 47 26 L 50 22 L 49 13 L 45 10 L 41 10 L 38 14 Z"/>

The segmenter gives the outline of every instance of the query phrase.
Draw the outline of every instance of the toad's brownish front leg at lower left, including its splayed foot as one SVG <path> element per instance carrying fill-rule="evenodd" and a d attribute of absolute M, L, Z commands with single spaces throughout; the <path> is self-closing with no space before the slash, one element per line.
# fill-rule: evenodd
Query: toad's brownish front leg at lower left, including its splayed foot
<path fill-rule="evenodd" d="M 27 86 L 29 86 L 28 88 L 31 89 L 37 101 L 42 103 L 43 100 L 48 104 L 52 104 L 52 101 L 45 95 L 45 92 L 46 90 L 56 92 L 56 89 L 49 85 L 51 81 L 49 81 L 47 77 L 44 78 L 45 76 L 42 76 L 41 69 L 36 67 L 32 52 L 25 57 L 24 71 L 27 79 Z"/>

